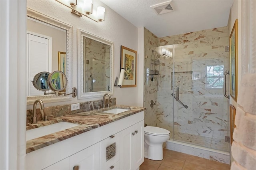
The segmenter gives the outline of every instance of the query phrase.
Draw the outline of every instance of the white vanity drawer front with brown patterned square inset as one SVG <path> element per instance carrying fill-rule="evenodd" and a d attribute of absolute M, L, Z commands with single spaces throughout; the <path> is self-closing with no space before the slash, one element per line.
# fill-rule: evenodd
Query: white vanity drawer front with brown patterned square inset
<path fill-rule="evenodd" d="M 100 169 L 108 169 L 120 158 L 119 132 L 100 141 Z"/>

